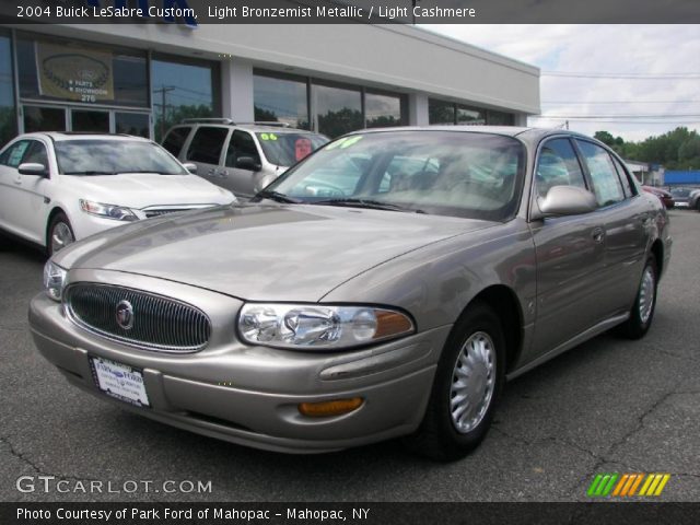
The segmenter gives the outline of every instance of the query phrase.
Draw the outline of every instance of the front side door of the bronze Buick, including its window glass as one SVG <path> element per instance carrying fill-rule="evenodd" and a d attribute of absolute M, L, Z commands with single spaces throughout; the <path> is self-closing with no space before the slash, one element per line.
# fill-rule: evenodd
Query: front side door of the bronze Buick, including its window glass
<path fill-rule="evenodd" d="M 553 186 L 590 189 L 568 137 L 544 142 L 536 162 L 534 198 L 545 198 Z M 530 229 L 537 259 L 534 348 L 544 353 L 590 328 L 599 318 L 604 230 L 595 212 L 548 217 L 532 222 Z"/>

